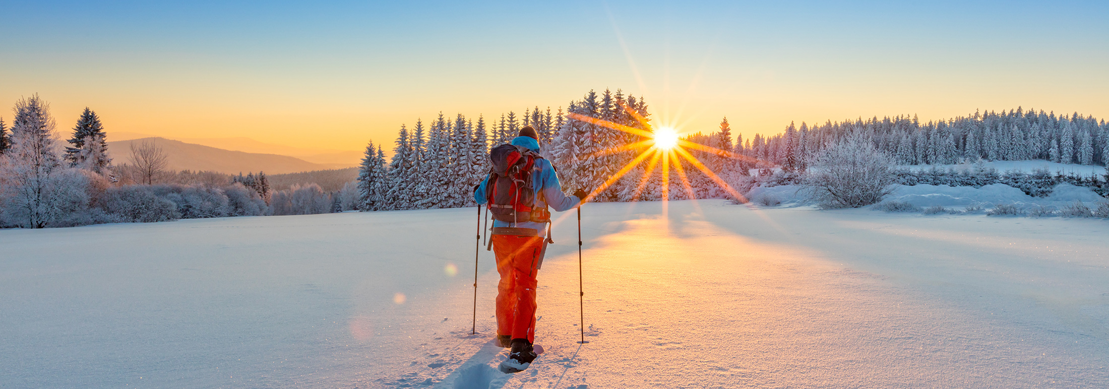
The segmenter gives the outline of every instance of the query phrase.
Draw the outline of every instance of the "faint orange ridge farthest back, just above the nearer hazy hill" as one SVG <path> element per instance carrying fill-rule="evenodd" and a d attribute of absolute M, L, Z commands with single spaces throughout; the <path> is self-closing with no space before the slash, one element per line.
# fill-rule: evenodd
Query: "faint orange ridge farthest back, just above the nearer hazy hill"
<path fill-rule="evenodd" d="M 109 143 L 115 141 L 130 141 L 143 137 L 157 137 L 156 135 L 136 132 L 109 132 Z M 335 167 L 350 167 L 358 165 L 363 152 L 334 149 L 295 147 L 279 144 L 264 143 L 256 140 L 237 137 L 163 137 L 167 140 L 181 141 L 205 145 L 210 147 L 223 149 L 227 151 L 241 151 L 258 154 L 277 154 L 293 156 L 306 162 L 316 164 L 333 165 Z"/>

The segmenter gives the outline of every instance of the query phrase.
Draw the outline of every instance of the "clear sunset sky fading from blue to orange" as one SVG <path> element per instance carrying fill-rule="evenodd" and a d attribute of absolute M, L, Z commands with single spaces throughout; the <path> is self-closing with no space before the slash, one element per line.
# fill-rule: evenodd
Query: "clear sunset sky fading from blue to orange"
<path fill-rule="evenodd" d="M 1106 1 L 0 0 L 0 117 L 38 93 L 68 132 L 391 146 L 440 112 L 557 110 L 590 90 L 655 124 L 1024 109 L 1109 116 Z"/>

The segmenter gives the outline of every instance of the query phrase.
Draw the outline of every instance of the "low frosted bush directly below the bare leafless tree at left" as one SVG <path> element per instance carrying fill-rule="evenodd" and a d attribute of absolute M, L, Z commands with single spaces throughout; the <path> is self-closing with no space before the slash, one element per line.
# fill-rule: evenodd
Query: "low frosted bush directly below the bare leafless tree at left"
<path fill-rule="evenodd" d="M 102 199 L 104 212 L 118 222 L 153 223 L 181 218 L 177 205 L 154 194 L 149 185 L 109 188 Z"/>

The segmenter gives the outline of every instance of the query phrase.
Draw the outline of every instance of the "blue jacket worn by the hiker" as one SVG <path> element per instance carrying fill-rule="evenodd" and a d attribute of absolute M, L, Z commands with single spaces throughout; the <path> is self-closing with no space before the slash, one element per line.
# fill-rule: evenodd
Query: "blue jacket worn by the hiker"
<path fill-rule="evenodd" d="M 512 140 L 512 144 L 528 147 L 537 153 L 539 152 L 539 142 L 531 136 L 517 136 Z M 562 186 L 558 182 L 558 173 L 554 172 L 554 166 L 551 166 L 550 161 L 547 161 L 546 158 L 537 158 L 536 166 L 539 167 L 539 171 L 531 175 L 531 181 L 533 187 L 536 188 L 536 193 L 542 193 L 542 199 L 538 198 L 539 196 L 536 196 L 537 207 L 542 208 L 550 205 L 550 207 L 554 211 L 563 212 L 573 208 L 581 203 L 581 198 L 562 193 Z M 477 201 L 478 204 L 485 205 L 488 203 L 488 199 L 485 196 L 486 185 L 488 184 L 489 177 L 486 177 L 486 180 L 481 182 L 481 185 L 478 186 L 478 190 L 474 192 L 474 199 Z M 543 204 L 543 199 L 546 199 L 546 204 Z M 511 225 L 508 222 L 494 221 L 492 226 L 510 227 Z M 539 233 L 539 236 L 546 236 L 545 234 L 547 233 L 547 223 L 519 222 L 516 223 L 516 226 L 521 228 L 533 228 Z"/>

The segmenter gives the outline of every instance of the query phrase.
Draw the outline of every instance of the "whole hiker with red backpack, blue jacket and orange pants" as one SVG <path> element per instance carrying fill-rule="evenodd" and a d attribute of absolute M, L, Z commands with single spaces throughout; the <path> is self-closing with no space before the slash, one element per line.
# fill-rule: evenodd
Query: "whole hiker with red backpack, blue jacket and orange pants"
<path fill-rule="evenodd" d="M 489 244 L 497 256 L 497 344 L 509 348 L 505 372 L 519 372 L 536 359 L 536 276 L 542 264 L 550 206 L 563 212 L 582 203 L 587 193 L 562 193 L 558 174 L 539 156 L 539 135 L 530 125 L 510 144 L 489 152 L 492 171 L 474 191 L 474 199 L 494 215 Z M 516 178 L 516 181 L 513 181 Z"/>

